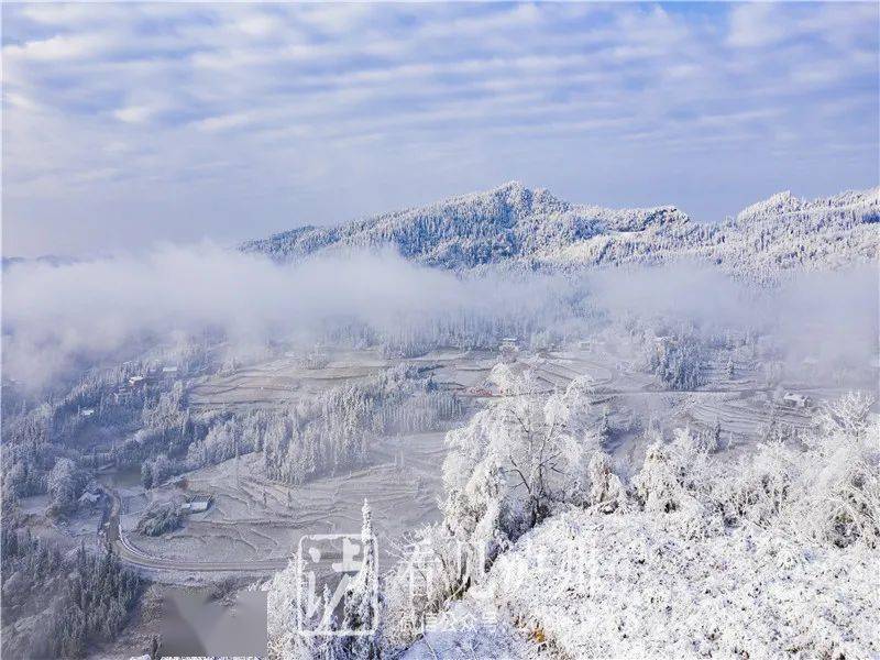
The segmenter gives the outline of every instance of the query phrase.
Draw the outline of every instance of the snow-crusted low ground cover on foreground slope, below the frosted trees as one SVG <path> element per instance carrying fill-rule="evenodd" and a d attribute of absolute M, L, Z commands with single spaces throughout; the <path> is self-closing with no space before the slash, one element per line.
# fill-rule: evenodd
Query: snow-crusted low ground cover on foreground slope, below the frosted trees
<path fill-rule="evenodd" d="M 757 527 L 688 539 L 674 517 L 554 516 L 503 554 L 449 616 L 470 608 L 477 620 L 506 618 L 490 642 L 543 639 L 571 658 L 880 654 L 875 551 L 806 546 Z M 522 628 L 514 636 L 513 622 Z M 452 649 L 474 636 L 465 627 L 427 639 Z M 527 657 L 513 642 L 501 650 L 492 657 Z M 426 651 L 416 645 L 409 657 L 432 657 Z"/>

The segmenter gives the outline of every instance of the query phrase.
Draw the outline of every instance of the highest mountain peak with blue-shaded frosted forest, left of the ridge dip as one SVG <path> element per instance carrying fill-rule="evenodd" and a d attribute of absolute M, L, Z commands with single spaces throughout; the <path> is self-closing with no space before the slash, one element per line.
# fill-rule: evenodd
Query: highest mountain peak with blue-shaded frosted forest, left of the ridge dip
<path fill-rule="evenodd" d="M 295 260 L 317 252 L 392 245 L 426 265 L 472 268 L 540 260 L 598 235 L 667 224 L 689 224 L 689 219 L 672 207 L 615 211 L 575 206 L 514 182 L 341 227 L 302 227 L 242 249 Z"/>

